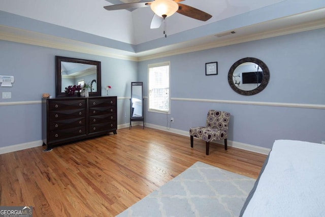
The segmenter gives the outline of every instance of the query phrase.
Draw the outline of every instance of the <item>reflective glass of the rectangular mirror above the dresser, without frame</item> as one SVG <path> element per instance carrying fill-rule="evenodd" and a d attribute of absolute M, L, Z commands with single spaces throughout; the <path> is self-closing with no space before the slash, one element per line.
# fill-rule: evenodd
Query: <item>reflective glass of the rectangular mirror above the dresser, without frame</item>
<path fill-rule="evenodd" d="M 88 87 L 90 92 L 97 92 L 97 66 L 61 61 L 61 92 L 67 86 L 80 85 Z"/>

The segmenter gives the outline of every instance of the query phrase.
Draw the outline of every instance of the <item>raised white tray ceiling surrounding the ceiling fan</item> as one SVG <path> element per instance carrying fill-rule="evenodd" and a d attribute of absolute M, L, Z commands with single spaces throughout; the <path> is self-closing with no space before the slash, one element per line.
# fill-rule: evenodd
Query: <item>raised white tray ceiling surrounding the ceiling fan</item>
<path fill-rule="evenodd" d="M 75 46 L 83 43 L 83 46 L 89 46 L 89 49 L 98 52 L 152 58 L 163 53 L 207 49 L 325 27 L 325 1 L 323 0 L 310 0 L 308 4 L 305 3 L 307 1 L 302 0 L 186 0 L 182 4 L 198 8 L 213 17 L 203 22 L 176 13 L 167 18 L 168 37 L 165 39 L 163 26 L 150 29 L 153 16 L 150 7 L 139 8 L 132 12 L 105 10 L 103 7 L 112 5 L 111 2 L 116 4 L 119 1 L 56 0 L 49 4 L 43 0 L 0 0 L 0 10 L 135 45 L 135 51 L 112 49 L 82 40 L 40 35 L 28 29 L 11 28 L 6 25 L 0 25 L 0 33 L 28 35 L 31 38 L 39 37 L 42 40 L 60 41 Z M 236 34 L 215 36 L 231 30 Z"/>

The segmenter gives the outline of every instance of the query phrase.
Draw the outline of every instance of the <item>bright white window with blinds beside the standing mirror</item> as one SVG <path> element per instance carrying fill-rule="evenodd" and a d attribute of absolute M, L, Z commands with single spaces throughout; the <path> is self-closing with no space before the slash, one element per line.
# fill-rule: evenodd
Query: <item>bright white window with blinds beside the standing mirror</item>
<path fill-rule="evenodd" d="M 170 62 L 148 65 L 149 111 L 170 113 Z"/>

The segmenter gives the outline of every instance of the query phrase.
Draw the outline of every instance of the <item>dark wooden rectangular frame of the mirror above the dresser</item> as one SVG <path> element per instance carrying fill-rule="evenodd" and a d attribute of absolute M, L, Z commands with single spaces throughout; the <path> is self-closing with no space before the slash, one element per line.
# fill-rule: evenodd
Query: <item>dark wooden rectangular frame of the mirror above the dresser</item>
<path fill-rule="evenodd" d="M 102 80 L 101 80 L 101 62 L 88 60 L 88 59 L 78 59 L 65 56 L 55 56 L 55 96 L 56 97 L 67 97 L 64 92 L 62 92 L 62 76 L 61 76 L 61 62 L 70 62 L 77 64 L 87 64 L 96 66 L 96 92 L 89 92 L 89 97 L 102 96 Z M 73 97 L 76 97 L 75 94 Z"/>

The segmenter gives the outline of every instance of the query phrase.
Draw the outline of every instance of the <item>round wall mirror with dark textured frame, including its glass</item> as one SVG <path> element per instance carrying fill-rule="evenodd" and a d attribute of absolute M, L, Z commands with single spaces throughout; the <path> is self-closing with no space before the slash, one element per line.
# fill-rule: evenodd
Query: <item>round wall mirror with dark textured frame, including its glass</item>
<path fill-rule="evenodd" d="M 238 94 L 246 96 L 264 90 L 269 80 L 269 68 L 262 60 L 254 57 L 239 59 L 228 73 L 228 83 L 231 88 Z"/>

